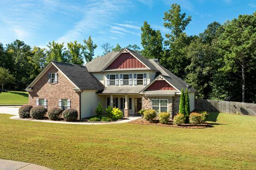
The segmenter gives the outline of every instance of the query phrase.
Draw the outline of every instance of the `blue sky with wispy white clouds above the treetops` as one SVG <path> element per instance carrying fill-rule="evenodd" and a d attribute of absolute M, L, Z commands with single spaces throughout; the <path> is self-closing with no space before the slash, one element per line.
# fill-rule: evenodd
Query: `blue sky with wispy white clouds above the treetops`
<path fill-rule="evenodd" d="M 16 39 L 30 46 L 46 47 L 49 41 L 70 42 L 92 36 L 98 45 L 140 45 L 140 27 L 147 21 L 162 36 L 163 13 L 170 4 L 181 5 L 192 16 L 188 35 L 198 34 L 214 21 L 224 23 L 239 14 L 256 11 L 256 0 L 1 0 L 0 42 Z"/>

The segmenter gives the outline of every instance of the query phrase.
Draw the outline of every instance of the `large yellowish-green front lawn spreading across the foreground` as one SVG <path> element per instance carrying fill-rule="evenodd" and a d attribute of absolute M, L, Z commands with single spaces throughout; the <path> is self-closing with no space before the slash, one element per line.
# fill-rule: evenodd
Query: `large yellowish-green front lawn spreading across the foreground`
<path fill-rule="evenodd" d="M 0 114 L 0 158 L 53 169 L 256 169 L 256 117 L 212 113 L 214 127 L 77 125 Z M 216 121 L 216 122 L 215 122 Z"/>

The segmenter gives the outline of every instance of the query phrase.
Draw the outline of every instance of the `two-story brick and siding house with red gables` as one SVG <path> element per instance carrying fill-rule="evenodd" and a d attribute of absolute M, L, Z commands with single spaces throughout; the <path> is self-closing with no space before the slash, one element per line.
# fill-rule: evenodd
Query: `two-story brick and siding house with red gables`
<path fill-rule="evenodd" d="M 194 110 L 193 89 L 163 68 L 131 49 L 112 51 L 84 66 L 50 62 L 26 88 L 29 104 L 48 109 L 74 108 L 79 119 L 95 115 L 99 102 L 118 107 L 125 117 L 141 109 L 178 113 L 181 90 L 188 88 Z"/>

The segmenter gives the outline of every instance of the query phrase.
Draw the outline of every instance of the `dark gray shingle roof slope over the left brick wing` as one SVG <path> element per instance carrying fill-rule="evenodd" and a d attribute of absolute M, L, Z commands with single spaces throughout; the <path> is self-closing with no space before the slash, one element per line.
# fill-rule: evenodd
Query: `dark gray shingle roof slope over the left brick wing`
<path fill-rule="evenodd" d="M 52 61 L 79 89 L 101 90 L 102 83 L 85 66 Z"/>

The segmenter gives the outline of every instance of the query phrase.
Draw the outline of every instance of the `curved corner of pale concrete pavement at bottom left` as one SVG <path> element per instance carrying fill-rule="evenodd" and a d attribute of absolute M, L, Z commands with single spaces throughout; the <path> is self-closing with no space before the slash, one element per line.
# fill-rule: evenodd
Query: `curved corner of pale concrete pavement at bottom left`
<path fill-rule="evenodd" d="M 40 165 L 27 162 L 0 159 L 0 170 L 52 170 Z"/>

